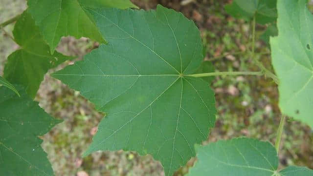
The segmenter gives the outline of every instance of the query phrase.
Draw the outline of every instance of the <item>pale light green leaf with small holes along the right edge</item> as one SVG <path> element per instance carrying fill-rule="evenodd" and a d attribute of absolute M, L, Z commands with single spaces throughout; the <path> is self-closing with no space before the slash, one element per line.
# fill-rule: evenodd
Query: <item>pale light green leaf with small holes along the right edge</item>
<path fill-rule="evenodd" d="M 278 0 L 278 37 L 270 39 L 283 114 L 313 127 L 313 16 L 307 0 Z"/>

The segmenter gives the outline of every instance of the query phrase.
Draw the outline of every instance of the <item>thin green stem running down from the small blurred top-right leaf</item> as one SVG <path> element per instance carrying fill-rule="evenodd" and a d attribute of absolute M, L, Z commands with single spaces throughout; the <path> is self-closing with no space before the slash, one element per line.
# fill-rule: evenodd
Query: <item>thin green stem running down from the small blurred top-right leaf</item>
<path fill-rule="evenodd" d="M 269 71 L 265 66 L 260 62 L 258 59 L 254 57 L 255 53 L 255 16 L 253 17 L 253 22 L 252 22 L 252 49 L 251 49 L 251 58 L 253 58 L 255 64 L 263 71 L 264 75 L 272 78 L 276 84 L 279 83 L 279 80 L 275 74 L 273 74 L 271 71 Z"/>

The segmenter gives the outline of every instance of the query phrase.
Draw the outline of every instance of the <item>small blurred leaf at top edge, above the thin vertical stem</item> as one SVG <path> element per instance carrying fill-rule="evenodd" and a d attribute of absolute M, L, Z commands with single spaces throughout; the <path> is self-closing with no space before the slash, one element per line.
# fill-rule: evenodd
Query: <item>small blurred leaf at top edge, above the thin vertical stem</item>
<path fill-rule="evenodd" d="M 233 0 L 225 5 L 225 10 L 239 19 L 251 20 L 255 16 L 260 24 L 273 22 L 277 18 L 276 0 Z"/>

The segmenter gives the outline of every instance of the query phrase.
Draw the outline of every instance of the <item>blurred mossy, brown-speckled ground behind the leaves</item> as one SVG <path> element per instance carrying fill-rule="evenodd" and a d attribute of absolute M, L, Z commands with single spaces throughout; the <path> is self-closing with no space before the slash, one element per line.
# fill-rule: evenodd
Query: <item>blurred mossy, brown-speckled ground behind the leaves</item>
<path fill-rule="evenodd" d="M 159 3 L 194 20 L 201 31 L 204 60 L 210 60 L 216 71 L 258 71 L 248 52 L 251 47 L 250 22 L 236 20 L 224 11 L 224 5 L 231 0 L 132 1 L 143 9 L 154 9 Z M 26 7 L 25 0 L 1 0 L 0 23 L 22 13 Z M 0 75 L 3 74 L 7 56 L 19 47 L 10 39 L 13 26 L 10 24 L 0 30 Z M 257 38 L 265 29 L 266 26 L 257 25 Z M 65 55 L 77 56 L 76 60 L 79 60 L 97 47 L 98 43 L 86 38 L 65 37 L 57 50 Z M 255 57 L 271 69 L 269 53 L 268 46 L 258 40 Z M 73 64 L 73 61 L 67 61 L 49 73 L 68 64 Z M 218 115 L 216 127 L 203 144 L 240 136 L 274 142 L 280 111 L 277 106 L 277 86 L 271 79 L 255 76 L 216 77 L 211 87 L 216 93 Z M 79 92 L 70 90 L 49 74 L 45 76 L 35 100 L 47 113 L 64 120 L 42 137 L 43 148 L 56 176 L 164 176 L 159 162 L 151 156 L 138 156 L 134 152 L 96 152 L 82 158 L 98 122 L 105 115 L 96 112 Z M 313 169 L 312 129 L 288 118 L 281 145 L 280 167 L 296 164 Z M 175 175 L 185 175 L 195 160 L 190 159 Z"/>

